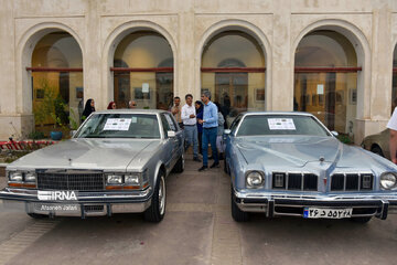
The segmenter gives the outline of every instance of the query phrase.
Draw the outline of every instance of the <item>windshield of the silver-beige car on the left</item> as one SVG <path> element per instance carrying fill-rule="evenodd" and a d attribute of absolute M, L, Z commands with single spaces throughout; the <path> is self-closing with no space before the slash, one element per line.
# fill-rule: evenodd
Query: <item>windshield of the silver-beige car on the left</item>
<path fill-rule="evenodd" d="M 157 115 L 94 114 L 76 138 L 160 138 Z"/>

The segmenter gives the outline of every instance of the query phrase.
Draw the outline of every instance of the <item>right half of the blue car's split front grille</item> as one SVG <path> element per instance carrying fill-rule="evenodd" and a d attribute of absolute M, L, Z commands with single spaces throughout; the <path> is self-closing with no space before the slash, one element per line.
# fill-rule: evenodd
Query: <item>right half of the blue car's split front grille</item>
<path fill-rule="evenodd" d="M 372 173 L 335 173 L 331 176 L 331 191 L 373 190 Z"/>

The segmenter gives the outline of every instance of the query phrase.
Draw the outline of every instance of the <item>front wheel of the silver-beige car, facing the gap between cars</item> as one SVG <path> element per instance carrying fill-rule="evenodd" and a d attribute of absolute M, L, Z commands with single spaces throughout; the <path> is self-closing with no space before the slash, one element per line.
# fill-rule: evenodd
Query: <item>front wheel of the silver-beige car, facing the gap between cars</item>
<path fill-rule="evenodd" d="M 158 223 L 164 218 L 165 194 L 165 177 L 164 173 L 160 171 L 154 187 L 151 205 L 143 213 L 146 221 Z"/>

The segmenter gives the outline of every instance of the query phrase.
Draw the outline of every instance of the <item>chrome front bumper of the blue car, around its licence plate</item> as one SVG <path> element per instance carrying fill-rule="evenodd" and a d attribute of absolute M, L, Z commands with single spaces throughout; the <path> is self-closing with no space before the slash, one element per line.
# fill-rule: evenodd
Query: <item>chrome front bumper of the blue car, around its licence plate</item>
<path fill-rule="evenodd" d="M 352 208 L 352 218 L 376 216 L 385 220 L 388 214 L 397 214 L 397 194 L 361 195 L 291 195 L 251 194 L 234 190 L 234 202 L 244 212 L 260 212 L 267 216 L 303 216 L 307 206 L 343 209 Z"/>

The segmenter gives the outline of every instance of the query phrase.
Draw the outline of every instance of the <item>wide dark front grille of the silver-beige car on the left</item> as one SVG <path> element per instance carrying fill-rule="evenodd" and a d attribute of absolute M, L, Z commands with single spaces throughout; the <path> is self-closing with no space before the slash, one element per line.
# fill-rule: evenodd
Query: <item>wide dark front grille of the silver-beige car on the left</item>
<path fill-rule="evenodd" d="M 40 172 L 37 188 L 43 190 L 101 191 L 105 188 L 101 172 Z"/>

